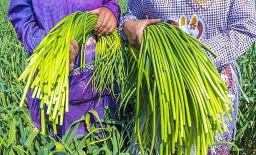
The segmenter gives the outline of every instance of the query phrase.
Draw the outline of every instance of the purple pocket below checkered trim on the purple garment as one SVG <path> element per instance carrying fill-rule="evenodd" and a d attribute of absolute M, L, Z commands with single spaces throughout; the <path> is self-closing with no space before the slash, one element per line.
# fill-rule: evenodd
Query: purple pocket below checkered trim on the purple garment
<path fill-rule="evenodd" d="M 93 98 L 91 84 L 86 88 L 88 81 L 91 78 L 93 71 L 83 69 L 81 74 L 69 76 L 69 102 L 77 103 Z"/>

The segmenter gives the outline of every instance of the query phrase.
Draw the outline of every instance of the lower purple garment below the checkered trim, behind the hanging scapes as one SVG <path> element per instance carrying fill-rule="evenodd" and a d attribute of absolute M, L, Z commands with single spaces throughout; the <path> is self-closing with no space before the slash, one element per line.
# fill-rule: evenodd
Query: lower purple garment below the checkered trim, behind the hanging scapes
<path fill-rule="evenodd" d="M 69 112 L 64 113 L 64 125 L 63 126 L 57 125 L 57 131 L 59 136 L 62 136 L 74 121 L 80 119 L 82 116 L 85 116 L 86 113 L 92 109 L 98 112 L 99 117 L 101 119 L 104 119 L 104 113 L 103 113 L 104 107 L 109 106 L 109 108 L 112 110 L 113 113 L 117 111 L 116 100 L 111 95 L 106 95 L 107 92 L 105 92 L 102 95 L 99 105 L 98 105 L 99 96 L 95 95 L 91 91 L 91 86 L 87 87 L 83 92 L 84 87 L 81 87 L 81 82 L 86 84 L 90 79 L 91 74 L 92 74 L 92 71 L 85 71 L 82 74 L 69 76 Z M 116 88 L 116 90 L 118 91 L 118 88 Z M 38 129 L 41 129 L 41 113 L 40 113 L 40 107 L 39 107 L 40 100 L 32 99 L 31 90 L 29 90 L 27 94 L 27 100 L 28 100 L 32 121 Z M 46 111 L 47 111 L 47 108 L 45 109 L 45 118 L 48 118 Z M 94 119 L 91 119 L 91 123 L 93 123 Z M 82 121 L 80 123 L 80 126 L 77 129 L 75 136 L 80 134 L 85 134 L 85 131 L 86 131 L 86 124 L 85 124 L 85 121 Z"/>

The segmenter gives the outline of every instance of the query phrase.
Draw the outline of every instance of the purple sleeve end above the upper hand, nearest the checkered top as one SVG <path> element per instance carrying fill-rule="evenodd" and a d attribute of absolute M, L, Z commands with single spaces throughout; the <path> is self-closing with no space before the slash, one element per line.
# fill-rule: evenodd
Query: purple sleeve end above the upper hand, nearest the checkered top
<path fill-rule="evenodd" d="M 103 7 L 108 8 L 112 13 L 114 13 L 115 18 L 117 18 L 117 23 L 119 23 L 121 9 L 116 0 L 104 0 Z"/>

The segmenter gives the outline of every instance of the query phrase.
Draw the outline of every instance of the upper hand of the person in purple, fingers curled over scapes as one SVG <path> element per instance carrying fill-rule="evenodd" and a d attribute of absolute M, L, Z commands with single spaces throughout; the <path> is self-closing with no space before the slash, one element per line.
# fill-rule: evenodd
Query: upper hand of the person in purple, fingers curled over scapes
<path fill-rule="evenodd" d="M 99 15 L 94 34 L 101 36 L 103 34 L 111 34 L 115 30 L 117 19 L 112 11 L 106 7 L 101 7 L 91 12 Z"/>

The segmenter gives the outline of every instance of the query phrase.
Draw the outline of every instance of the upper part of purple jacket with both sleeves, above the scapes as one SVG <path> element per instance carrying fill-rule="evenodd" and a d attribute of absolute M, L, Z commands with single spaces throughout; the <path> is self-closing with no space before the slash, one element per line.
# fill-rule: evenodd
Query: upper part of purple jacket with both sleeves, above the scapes
<path fill-rule="evenodd" d="M 119 20 L 120 8 L 115 0 L 11 0 L 8 17 L 30 56 L 45 34 L 64 17 L 103 6 Z"/>

